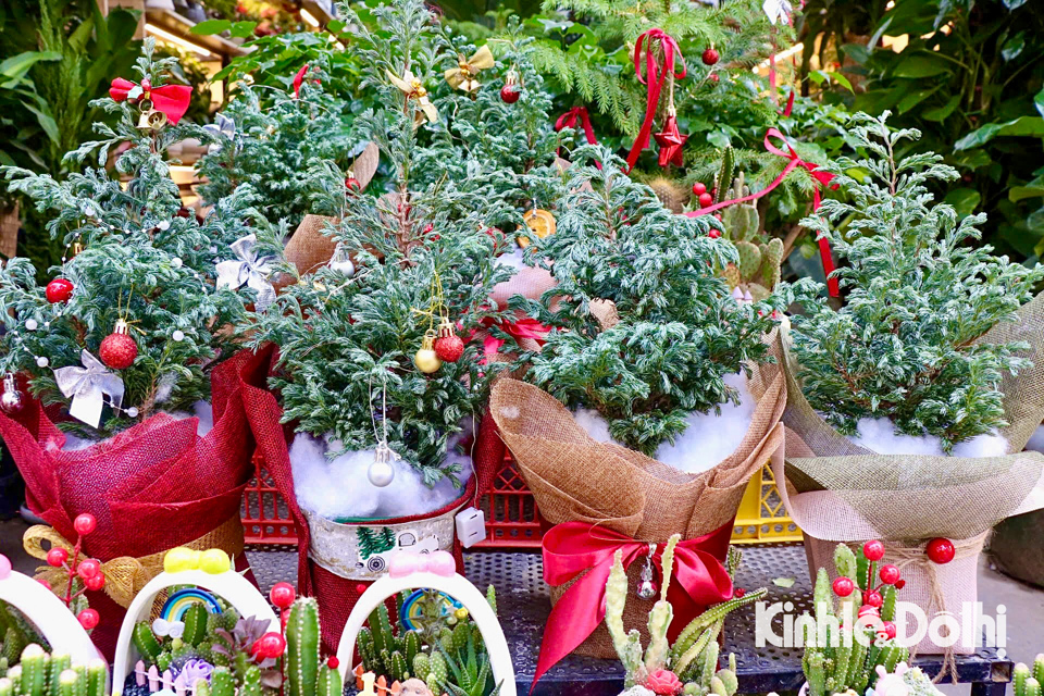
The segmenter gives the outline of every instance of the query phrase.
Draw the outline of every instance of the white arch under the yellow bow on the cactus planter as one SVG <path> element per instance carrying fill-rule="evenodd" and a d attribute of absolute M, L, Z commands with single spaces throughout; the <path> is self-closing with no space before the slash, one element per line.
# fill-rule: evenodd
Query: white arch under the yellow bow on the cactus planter
<path fill-rule="evenodd" d="M 201 570 L 184 570 L 175 573 L 162 572 L 141 588 L 141 592 L 127 608 L 127 616 L 120 626 L 120 637 L 116 641 L 116 659 L 112 667 L 114 696 L 123 693 L 123 685 L 130 673 L 134 663 L 139 659 L 138 650 L 130 639 L 134 626 L 139 621 L 148 621 L 152 612 L 152 604 L 157 595 L 175 585 L 196 585 L 209 589 L 226 600 L 240 617 L 257 617 L 269 621 L 269 631 L 282 633 L 279 620 L 276 618 L 268 600 L 250 584 L 250 581 L 237 573 L 235 569 L 223 573 L 204 573 Z"/>

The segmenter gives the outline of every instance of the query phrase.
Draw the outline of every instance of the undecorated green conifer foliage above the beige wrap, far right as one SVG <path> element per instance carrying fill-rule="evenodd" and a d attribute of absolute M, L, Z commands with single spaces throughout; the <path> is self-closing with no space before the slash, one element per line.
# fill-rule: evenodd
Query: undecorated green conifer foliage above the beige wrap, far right
<path fill-rule="evenodd" d="M 920 133 L 893 132 L 887 116 L 853 119 L 849 136 L 872 159 L 838 159 L 850 202 L 826 200 L 804 221 L 847 259 L 836 273 L 849 291 L 841 310 L 817 302 L 794 318 L 794 353 L 805 396 L 840 432 L 887 417 L 948 451 L 1005 424 L 998 383 L 1027 364 L 1027 346 L 977 339 L 1014 320 L 1044 270 L 970 246 L 986 216 L 933 204 L 928 185 L 957 171 L 934 153 L 902 157 Z"/>

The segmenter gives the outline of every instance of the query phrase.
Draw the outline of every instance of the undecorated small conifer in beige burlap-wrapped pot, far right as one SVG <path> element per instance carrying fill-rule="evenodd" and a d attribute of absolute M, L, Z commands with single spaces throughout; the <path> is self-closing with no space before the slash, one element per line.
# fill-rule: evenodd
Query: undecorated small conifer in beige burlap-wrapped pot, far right
<path fill-rule="evenodd" d="M 806 220 L 846 257 L 836 275 L 848 295 L 841 310 L 806 304 L 780 343 L 783 422 L 795 434 L 794 487 L 780 493 L 812 572 L 837 542 L 880 538 L 905 600 L 929 620 L 953 612 L 953 632 L 977 599 L 985 534 L 1041 507 L 1031 494 L 1044 459 L 1021 450 L 1044 409 L 1044 299 L 1031 301 L 1044 270 L 964 244 L 984 216 L 931 204 L 928 184 L 956 171 L 933 153 L 899 159 L 918 134 L 890 130 L 886 116 L 854 120 L 849 135 L 872 159 L 836 164 L 852 202 L 824 201 L 823 215 Z M 847 173 L 857 170 L 865 179 Z M 783 464 L 773 471 L 782 477 Z M 940 648 L 929 634 L 918 649 L 973 646 Z"/>

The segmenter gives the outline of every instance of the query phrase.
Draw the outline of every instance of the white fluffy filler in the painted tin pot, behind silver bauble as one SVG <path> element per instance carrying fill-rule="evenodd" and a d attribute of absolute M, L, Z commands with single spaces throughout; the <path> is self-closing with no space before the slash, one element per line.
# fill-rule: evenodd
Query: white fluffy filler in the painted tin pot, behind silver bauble
<path fill-rule="evenodd" d="M 457 444 L 471 436 L 468 427 L 450 437 L 446 463 L 460 464 L 461 484 L 467 484 L 474 471 L 471 457 L 459 455 Z M 395 449 L 395 444 L 390 444 Z M 330 520 L 386 520 L 413 514 L 426 514 L 444 508 L 463 493 L 449 478 L 442 478 L 434 487 L 424 485 L 421 475 L 405 460 L 393 462 L 395 478 L 380 488 L 370 483 L 366 472 L 375 450 L 347 452 L 335 459 L 326 458 L 330 450 L 340 449 L 339 443 L 298 433 L 290 445 L 290 470 L 297 502 Z"/>

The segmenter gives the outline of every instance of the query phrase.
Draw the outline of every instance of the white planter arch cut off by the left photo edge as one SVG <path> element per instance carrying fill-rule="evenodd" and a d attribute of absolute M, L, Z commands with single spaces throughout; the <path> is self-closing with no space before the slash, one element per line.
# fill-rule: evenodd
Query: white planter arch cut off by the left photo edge
<path fill-rule="evenodd" d="M 50 644 L 52 655 L 69 655 L 74 664 L 84 666 L 101 658 L 90 636 L 65 602 L 28 575 L 11 571 L 7 577 L 0 577 L 0 600 L 33 622 Z M 105 679 L 108 676 L 107 664 Z"/>

